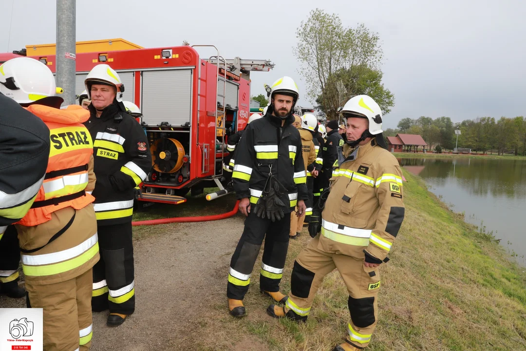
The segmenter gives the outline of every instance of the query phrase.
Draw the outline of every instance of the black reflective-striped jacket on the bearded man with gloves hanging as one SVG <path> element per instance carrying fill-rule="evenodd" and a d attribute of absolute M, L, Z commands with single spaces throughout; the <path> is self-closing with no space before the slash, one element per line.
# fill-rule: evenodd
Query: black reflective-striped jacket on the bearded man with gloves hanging
<path fill-rule="evenodd" d="M 238 199 L 248 197 L 256 204 L 265 187 L 269 172 L 287 189 L 281 200 L 288 212 L 299 200 L 307 200 L 307 174 L 302 157 L 301 137 L 292 126 L 291 114 L 281 126 L 281 119 L 267 113 L 250 123 L 236 147 L 232 181 Z M 271 168 L 270 168 L 271 167 Z"/>

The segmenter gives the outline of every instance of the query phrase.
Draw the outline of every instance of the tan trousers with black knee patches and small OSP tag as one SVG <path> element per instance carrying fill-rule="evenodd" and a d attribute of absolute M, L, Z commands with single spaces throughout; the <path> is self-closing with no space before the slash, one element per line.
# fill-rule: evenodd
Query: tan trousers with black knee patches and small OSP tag
<path fill-rule="evenodd" d="M 308 316 L 323 278 L 338 268 L 349 293 L 349 339 L 358 348 L 366 347 L 378 320 L 378 267 L 366 267 L 363 259 L 324 252 L 318 246 L 319 236 L 309 242 L 294 262 L 286 307 L 300 316 Z"/>

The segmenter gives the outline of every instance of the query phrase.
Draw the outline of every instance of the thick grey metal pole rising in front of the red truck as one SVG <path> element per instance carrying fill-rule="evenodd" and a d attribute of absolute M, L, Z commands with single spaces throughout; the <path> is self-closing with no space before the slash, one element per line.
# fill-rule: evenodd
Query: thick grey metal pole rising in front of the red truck
<path fill-rule="evenodd" d="M 64 89 L 60 96 L 65 106 L 75 104 L 75 16 L 75 0 L 57 0 L 56 74 L 57 86 Z"/>

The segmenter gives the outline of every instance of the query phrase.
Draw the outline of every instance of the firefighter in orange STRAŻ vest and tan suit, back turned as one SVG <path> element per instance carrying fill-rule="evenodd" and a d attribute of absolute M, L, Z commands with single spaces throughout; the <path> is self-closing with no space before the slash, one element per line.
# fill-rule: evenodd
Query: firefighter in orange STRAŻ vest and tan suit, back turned
<path fill-rule="evenodd" d="M 0 89 L 44 121 L 51 147 L 44 183 L 16 224 L 27 307 L 43 308 L 44 350 L 87 350 L 92 338 L 92 267 L 99 259 L 93 143 L 79 106 L 60 109 L 49 68 L 29 57 L 0 69 Z M 8 83 L 8 84 L 5 84 Z M 8 93 L 7 93 L 8 92 Z"/>

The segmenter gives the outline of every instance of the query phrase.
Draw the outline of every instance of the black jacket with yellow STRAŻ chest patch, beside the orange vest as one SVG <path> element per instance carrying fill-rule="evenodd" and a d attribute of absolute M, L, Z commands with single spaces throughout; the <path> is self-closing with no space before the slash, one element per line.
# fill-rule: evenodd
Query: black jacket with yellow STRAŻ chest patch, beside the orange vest
<path fill-rule="evenodd" d="M 117 104 L 106 107 L 99 118 L 93 105 L 85 123 L 93 139 L 97 182 L 93 190 L 98 225 L 131 221 L 134 188 L 151 169 L 148 139 L 136 119 Z M 122 118 L 121 118 L 122 117 Z"/>

